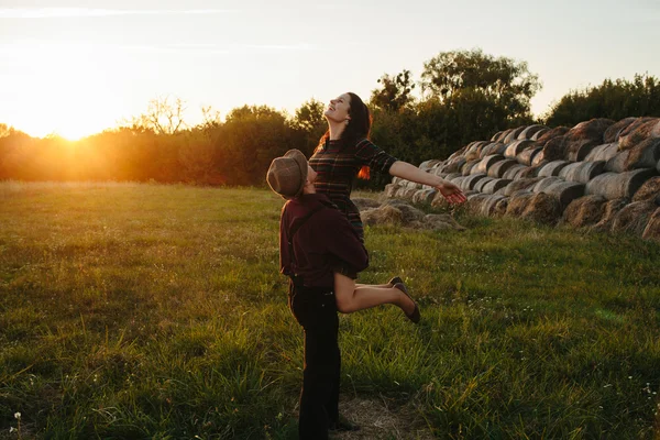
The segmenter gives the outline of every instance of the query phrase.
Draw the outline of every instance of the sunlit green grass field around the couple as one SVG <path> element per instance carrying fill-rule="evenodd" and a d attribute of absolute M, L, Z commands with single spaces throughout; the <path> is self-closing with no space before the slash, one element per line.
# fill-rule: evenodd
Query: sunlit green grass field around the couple
<path fill-rule="evenodd" d="M 280 207 L 264 189 L 0 183 L 0 438 L 295 438 Z M 353 438 L 659 439 L 660 246 L 458 220 L 366 231 L 361 280 L 400 275 L 422 321 L 341 317 Z"/>

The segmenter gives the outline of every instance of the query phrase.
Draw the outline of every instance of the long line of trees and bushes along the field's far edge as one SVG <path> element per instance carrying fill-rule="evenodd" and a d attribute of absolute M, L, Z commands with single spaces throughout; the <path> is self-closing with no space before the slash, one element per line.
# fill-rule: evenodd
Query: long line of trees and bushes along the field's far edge
<path fill-rule="evenodd" d="M 417 82 L 403 70 L 385 74 L 376 84 L 369 97 L 372 140 L 413 164 L 444 158 L 471 141 L 522 124 L 572 127 L 592 118 L 660 116 L 659 80 L 637 75 L 632 81 L 606 79 L 571 91 L 535 120 L 529 102 L 541 88 L 538 76 L 525 62 L 481 50 L 438 54 L 424 64 Z M 416 87 L 418 97 L 413 95 Z M 343 91 L 349 90 L 338 94 Z M 244 106 L 224 121 L 204 108 L 204 121 L 189 127 L 185 102 L 158 98 L 121 127 L 77 142 L 31 138 L 0 124 L 0 179 L 261 186 L 273 157 L 289 148 L 311 155 L 326 130 L 324 108 L 314 99 L 295 114 Z M 360 186 L 377 189 L 389 180 L 372 173 Z"/>

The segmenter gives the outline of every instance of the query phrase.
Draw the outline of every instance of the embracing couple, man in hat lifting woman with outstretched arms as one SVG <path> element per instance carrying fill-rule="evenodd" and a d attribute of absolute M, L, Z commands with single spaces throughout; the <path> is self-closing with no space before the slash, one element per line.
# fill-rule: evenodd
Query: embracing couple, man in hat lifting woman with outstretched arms
<path fill-rule="evenodd" d="M 374 145 L 369 140 L 372 118 L 358 95 L 332 99 L 324 117 L 328 131 L 309 162 L 290 150 L 273 161 L 266 175 L 271 188 L 287 200 L 279 223 L 279 263 L 290 277 L 289 308 L 305 332 L 300 439 L 356 429 L 339 415 L 338 311 L 393 304 L 413 322 L 420 319 L 399 277 L 382 285 L 355 283 L 369 266 L 360 211 L 350 199 L 355 176 L 367 177 L 375 169 L 438 188 L 449 202 L 465 201 L 455 185 Z"/>

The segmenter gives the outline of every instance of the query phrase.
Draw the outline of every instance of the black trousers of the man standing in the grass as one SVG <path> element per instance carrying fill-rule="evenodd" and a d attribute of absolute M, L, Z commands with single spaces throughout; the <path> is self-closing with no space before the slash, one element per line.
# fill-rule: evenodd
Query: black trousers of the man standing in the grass
<path fill-rule="evenodd" d="M 305 331 L 305 369 L 300 393 L 300 439 L 327 439 L 339 418 L 339 318 L 331 288 L 290 283 L 289 308 Z"/>

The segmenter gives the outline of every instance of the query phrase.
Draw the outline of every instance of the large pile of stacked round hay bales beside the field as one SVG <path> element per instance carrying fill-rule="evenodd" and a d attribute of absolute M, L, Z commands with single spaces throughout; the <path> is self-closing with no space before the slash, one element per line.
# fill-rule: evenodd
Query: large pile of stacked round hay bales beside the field
<path fill-rule="evenodd" d="M 660 241 L 660 119 L 592 119 L 569 129 L 498 132 L 421 168 L 458 185 L 470 211 Z M 385 196 L 444 204 L 435 188 L 394 178 Z"/>

